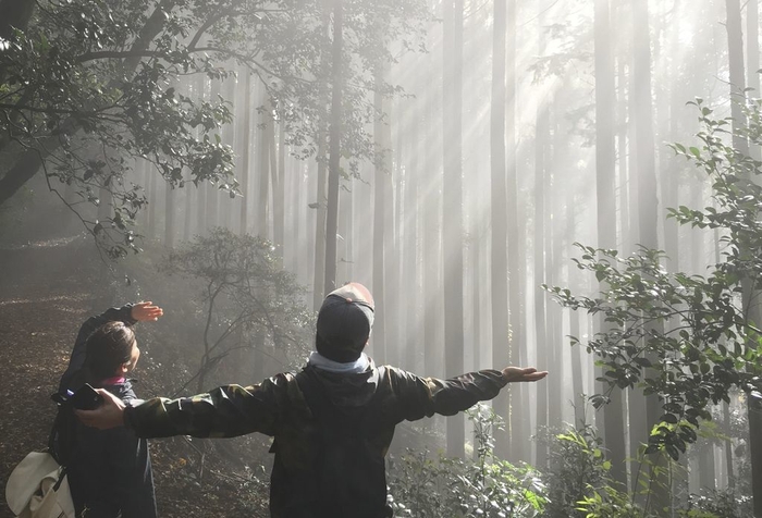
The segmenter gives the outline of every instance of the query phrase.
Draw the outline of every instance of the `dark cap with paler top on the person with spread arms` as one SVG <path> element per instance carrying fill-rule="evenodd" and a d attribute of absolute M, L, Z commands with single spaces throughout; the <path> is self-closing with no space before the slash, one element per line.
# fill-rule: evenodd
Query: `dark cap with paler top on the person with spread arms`
<path fill-rule="evenodd" d="M 372 326 L 372 295 L 362 284 L 345 284 L 329 293 L 320 307 L 316 348 L 333 361 L 355 361 L 362 354 Z"/>

